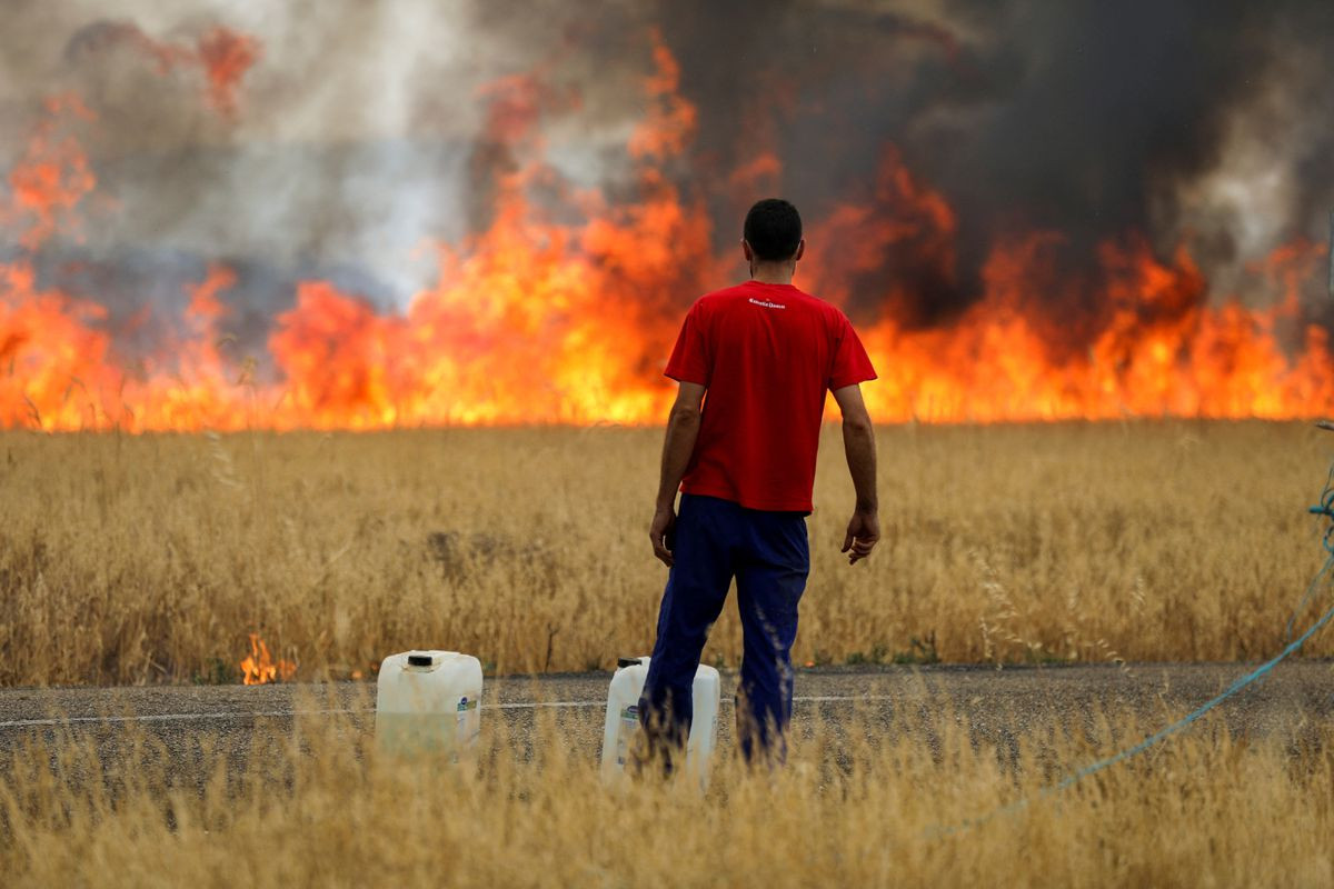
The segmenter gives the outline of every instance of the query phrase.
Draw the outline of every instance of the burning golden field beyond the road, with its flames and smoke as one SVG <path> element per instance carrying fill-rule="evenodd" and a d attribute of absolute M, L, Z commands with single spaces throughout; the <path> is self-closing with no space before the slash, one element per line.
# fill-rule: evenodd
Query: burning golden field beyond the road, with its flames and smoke
<path fill-rule="evenodd" d="M 0 681 L 366 677 L 423 626 L 496 669 L 643 648 L 662 367 L 778 192 L 908 424 L 804 661 L 1270 650 L 1323 454 L 1258 421 L 1334 413 L 1330 13 L 442 9 L 16 11 Z M 719 36 L 762 9 L 768 44 Z"/>

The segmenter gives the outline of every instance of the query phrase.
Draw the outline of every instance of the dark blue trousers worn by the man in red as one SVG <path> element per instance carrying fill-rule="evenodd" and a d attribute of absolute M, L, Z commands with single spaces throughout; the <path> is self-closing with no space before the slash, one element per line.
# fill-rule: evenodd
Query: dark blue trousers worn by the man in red
<path fill-rule="evenodd" d="M 736 690 L 742 754 L 782 760 L 792 716 L 796 604 L 811 568 L 806 516 L 746 509 L 728 500 L 682 494 L 640 721 L 650 750 L 668 758 L 690 736 L 691 688 L 708 630 L 736 578 L 744 654 Z"/>

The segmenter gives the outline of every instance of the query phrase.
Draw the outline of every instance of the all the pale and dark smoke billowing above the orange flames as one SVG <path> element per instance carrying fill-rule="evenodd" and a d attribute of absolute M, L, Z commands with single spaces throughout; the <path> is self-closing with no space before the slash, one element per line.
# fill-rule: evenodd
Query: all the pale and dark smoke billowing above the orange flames
<path fill-rule="evenodd" d="M 217 28 L 255 41 L 232 107 L 193 61 Z M 951 249 L 846 269 L 854 315 L 906 293 L 911 324 L 948 323 L 978 299 L 988 251 L 1029 231 L 1061 233 L 1071 280 L 1107 239 L 1138 232 L 1162 256 L 1189 240 L 1215 293 L 1278 244 L 1323 240 L 1334 9 L 1301 0 L 17 0 L 0 32 L 0 167 L 44 96 L 83 96 L 101 200 L 43 273 L 115 321 L 179 305 L 176 283 L 223 261 L 239 271 L 235 323 L 257 340 L 303 277 L 404 305 L 435 273 L 430 245 L 484 227 L 526 152 L 575 188 L 632 195 L 651 29 L 698 109 L 663 173 L 706 203 L 720 249 L 766 193 L 812 232 L 847 204 L 867 229 L 892 221 L 896 192 L 875 187 L 890 155 L 954 208 Z M 506 79 L 536 89 L 498 93 Z M 498 95 L 523 120 L 498 121 Z"/>

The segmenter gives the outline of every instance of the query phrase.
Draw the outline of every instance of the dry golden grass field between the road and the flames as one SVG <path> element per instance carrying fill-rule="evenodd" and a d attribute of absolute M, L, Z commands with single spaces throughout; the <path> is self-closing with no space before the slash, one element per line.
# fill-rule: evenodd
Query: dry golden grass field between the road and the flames
<path fill-rule="evenodd" d="M 606 669 L 652 642 L 659 440 L 0 435 L 0 684 L 235 681 L 252 630 L 303 680 L 415 646 Z M 1322 558 L 1305 508 L 1331 444 L 1307 424 L 884 428 L 886 541 L 850 568 L 830 428 L 795 656 L 1265 656 Z M 728 610 L 706 660 L 739 650 Z"/>

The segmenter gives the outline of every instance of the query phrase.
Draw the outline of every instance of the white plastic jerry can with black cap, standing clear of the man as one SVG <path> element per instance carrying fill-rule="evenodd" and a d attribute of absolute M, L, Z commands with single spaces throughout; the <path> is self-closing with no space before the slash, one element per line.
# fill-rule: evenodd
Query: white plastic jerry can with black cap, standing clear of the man
<path fill-rule="evenodd" d="M 448 753 L 458 762 L 482 732 L 482 662 L 458 652 L 403 652 L 380 664 L 375 741 L 392 753 Z"/>

